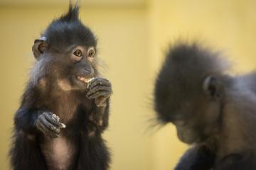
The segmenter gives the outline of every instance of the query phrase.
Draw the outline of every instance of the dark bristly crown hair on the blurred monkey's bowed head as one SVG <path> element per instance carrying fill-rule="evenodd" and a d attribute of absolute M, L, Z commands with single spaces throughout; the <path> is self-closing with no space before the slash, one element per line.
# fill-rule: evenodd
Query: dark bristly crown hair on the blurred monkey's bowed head
<path fill-rule="evenodd" d="M 209 75 L 221 79 L 229 63 L 198 42 L 176 42 L 169 47 L 166 58 L 156 77 L 154 109 L 161 122 L 169 121 L 181 103 L 193 101 L 203 91 L 203 81 Z"/>

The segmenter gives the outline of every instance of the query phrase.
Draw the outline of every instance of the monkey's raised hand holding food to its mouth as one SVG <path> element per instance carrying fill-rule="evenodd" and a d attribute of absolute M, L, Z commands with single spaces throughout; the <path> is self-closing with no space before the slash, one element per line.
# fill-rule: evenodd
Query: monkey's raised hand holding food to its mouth
<path fill-rule="evenodd" d="M 112 94 L 112 87 L 110 81 L 96 77 L 90 81 L 89 91 L 86 96 L 89 99 L 95 98 L 97 106 L 107 106 L 107 98 Z"/>

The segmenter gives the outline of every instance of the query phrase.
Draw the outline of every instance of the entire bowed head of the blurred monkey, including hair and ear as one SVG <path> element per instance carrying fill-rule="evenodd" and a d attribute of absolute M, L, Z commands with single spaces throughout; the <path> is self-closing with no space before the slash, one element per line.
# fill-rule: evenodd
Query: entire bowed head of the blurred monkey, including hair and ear
<path fill-rule="evenodd" d="M 174 45 L 156 78 L 157 118 L 176 125 L 178 138 L 188 144 L 213 137 L 220 129 L 226 64 L 217 57 L 197 44 Z"/>

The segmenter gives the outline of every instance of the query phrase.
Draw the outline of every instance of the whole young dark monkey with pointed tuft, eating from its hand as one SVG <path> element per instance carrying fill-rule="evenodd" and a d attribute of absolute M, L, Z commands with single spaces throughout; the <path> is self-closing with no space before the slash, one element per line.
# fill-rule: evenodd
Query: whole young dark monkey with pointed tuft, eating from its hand
<path fill-rule="evenodd" d="M 110 81 L 97 71 L 97 41 L 79 6 L 53 20 L 32 47 L 36 63 L 14 118 L 14 170 L 106 170 Z"/>

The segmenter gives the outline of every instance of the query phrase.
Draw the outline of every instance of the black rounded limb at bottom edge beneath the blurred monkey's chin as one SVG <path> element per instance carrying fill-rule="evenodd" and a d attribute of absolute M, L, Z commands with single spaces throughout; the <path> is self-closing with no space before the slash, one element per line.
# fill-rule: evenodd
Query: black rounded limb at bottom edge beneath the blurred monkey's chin
<path fill-rule="evenodd" d="M 213 167 L 215 154 L 205 145 L 191 147 L 181 157 L 174 170 L 207 170 Z"/>

